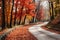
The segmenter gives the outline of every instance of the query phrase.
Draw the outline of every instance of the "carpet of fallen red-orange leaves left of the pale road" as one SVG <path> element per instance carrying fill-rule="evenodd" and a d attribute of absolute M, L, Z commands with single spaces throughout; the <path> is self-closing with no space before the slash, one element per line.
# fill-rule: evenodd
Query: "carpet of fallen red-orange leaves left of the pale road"
<path fill-rule="evenodd" d="M 29 31 L 29 26 L 19 27 L 11 31 L 5 40 L 37 40 Z"/>

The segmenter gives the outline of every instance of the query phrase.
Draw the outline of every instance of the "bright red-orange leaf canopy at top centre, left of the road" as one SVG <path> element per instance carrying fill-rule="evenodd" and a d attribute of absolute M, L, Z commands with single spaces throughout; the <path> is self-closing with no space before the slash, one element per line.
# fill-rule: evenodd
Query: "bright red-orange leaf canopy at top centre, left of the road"
<path fill-rule="evenodd" d="M 33 0 L 15 0 L 15 1 L 16 1 L 15 6 L 17 7 L 18 5 L 21 6 L 20 10 L 17 11 L 16 17 L 25 16 L 26 14 L 30 14 L 32 17 L 35 15 L 35 13 L 32 12 L 32 10 L 35 10 L 35 3 L 32 3 Z M 18 2 L 20 2 L 20 4 L 18 4 Z M 25 10 L 23 10 L 24 8 Z"/>

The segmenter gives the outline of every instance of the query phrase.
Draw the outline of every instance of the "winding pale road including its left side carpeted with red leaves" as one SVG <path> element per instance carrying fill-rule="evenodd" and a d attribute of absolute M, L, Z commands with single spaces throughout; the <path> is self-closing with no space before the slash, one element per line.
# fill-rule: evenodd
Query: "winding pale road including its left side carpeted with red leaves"
<path fill-rule="evenodd" d="M 0 35 L 0 40 L 4 36 L 6 36 L 5 40 L 60 40 L 60 34 L 55 34 L 41 28 L 42 25 L 46 25 L 47 23 L 44 22 L 31 26 L 16 26 Z"/>

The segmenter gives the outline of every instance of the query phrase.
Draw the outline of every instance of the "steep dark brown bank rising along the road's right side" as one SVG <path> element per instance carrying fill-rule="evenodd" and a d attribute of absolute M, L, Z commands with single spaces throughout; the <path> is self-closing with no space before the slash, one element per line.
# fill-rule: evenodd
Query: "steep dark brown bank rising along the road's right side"
<path fill-rule="evenodd" d="M 50 21 L 47 24 L 47 27 L 50 28 L 50 29 L 54 29 L 54 30 L 60 31 L 60 14 L 57 15 L 55 19 Z"/>

